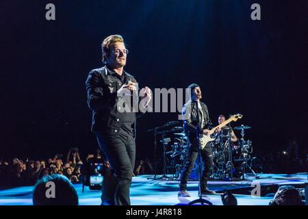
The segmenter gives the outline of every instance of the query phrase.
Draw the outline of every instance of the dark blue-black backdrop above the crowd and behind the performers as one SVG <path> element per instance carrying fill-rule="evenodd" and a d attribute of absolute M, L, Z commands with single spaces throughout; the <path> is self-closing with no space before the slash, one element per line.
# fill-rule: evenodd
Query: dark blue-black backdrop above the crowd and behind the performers
<path fill-rule="evenodd" d="M 45 5 L 55 4 L 55 21 Z M 251 5 L 261 5 L 261 21 Z M 16 1 L 0 3 L 0 158 L 97 148 L 85 81 L 102 66 L 101 42 L 120 34 L 125 70 L 140 86 L 198 83 L 214 124 L 241 113 L 255 153 L 297 138 L 307 147 L 307 1 Z M 153 132 L 178 113 L 138 119 L 137 157 L 153 159 Z M 235 131 L 240 137 L 240 131 Z M 159 145 L 160 147 L 161 145 Z M 159 155 L 160 156 L 160 155 Z"/>

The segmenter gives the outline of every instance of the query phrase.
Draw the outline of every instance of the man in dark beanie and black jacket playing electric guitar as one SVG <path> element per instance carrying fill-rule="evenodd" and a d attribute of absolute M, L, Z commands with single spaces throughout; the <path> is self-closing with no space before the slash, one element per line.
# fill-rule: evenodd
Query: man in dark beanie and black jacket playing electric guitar
<path fill-rule="evenodd" d="M 191 89 L 190 101 L 183 106 L 182 115 L 186 116 L 185 120 L 183 120 L 184 131 L 190 142 L 190 150 L 186 159 L 183 174 L 181 175 L 181 183 L 179 184 L 180 190 L 178 193 L 178 196 L 184 197 L 190 197 L 190 194 L 187 192 L 187 181 L 198 155 L 196 126 L 198 126 L 198 133 L 200 133 L 199 138 L 202 138 L 203 135 L 208 134 L 209 129 L 206 128 L 206 125 L 210 123 L 207 105 L 200 101 L 202 98 L 200 86 L 196 83 L 192 83 L 188 88 Z M 220 131 L 220 128 L 216 130 L 216 132 L 218 131 Z M 203 161 L 201 194 L 216 194 L 216 192 L 207 188 L 207 181 L 209 180 L 213 166 L 213 155 L 211 144 L 209 142 L 207 142 L 206 146 L 201 150 L 201 159 Z"/>

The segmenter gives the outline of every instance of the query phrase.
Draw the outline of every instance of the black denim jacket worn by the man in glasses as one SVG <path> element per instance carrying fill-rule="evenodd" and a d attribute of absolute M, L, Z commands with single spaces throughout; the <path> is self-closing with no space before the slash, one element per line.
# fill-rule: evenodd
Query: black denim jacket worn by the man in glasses
<path fill-rule="evenodd" d="M 126 81 L 137 83 L 129 73 L 123 71 Z M 91 70 L 86 80 L 88 91 L 88 106 L 92 110 L 92 127 L 94 132 L 101 132 L 107 136 L 117 136 L 120 131 L 123 113 L 118 112 L 119 101 L 117 91 L 123 83 L 115 81 L 106 66 Z M 142 113 L 136 113 L 140 115 Z M 133 123 L 133 137 L 136 137 L 136 118 Z"/>

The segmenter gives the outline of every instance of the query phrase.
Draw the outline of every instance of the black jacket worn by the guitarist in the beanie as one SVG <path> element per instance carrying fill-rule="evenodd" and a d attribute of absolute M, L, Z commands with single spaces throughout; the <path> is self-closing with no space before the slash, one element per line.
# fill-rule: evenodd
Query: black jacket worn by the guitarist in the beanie
<path fill-rule="evenodd" d="M 201 102 L 201 107 L 203 110 L 203 116 L 205 118 L 205 125 L 202 127 L 202 120 L 201 116 L 198 121 L 198 106 L 196 101 L 188 101 L 183 106 L 182 114 L 185 115 L 185 120 L 183 120 L 183 126 L 184 126 L 184 132 L 185 135 L 188 136 L 188 140 L 190 141 L 190 144 L 193 149 L 197 149 L 196 144 L 196 126 L 198 125 L 198 133 L 200 134 L 199 137 L 203 135 L 203 130 L 207 129 L 208 124 L 211 123 L 211 120 L 209 119 L 209 111 L 207 110 L 207 105 L 205 103 Z M 199 123 L 198 123 L 199 122 Z M 198 123 L 198 124 L 197 124 Z"/>

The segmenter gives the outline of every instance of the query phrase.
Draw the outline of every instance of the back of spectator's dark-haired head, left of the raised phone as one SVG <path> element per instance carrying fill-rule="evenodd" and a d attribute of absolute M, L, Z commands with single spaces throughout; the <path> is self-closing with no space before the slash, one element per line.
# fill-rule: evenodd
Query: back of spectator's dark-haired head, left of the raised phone
<path fill-rule="evenodd" d="M 52 181 L 55 183 L 55 197 L 47 197 L 46 183 Z M 36 185 L 33 192 L 34 205 L 78 205 L 78 194 L 70 183 L 69 179 L 64 175 L 53 174 L 44 176 Z"/>

